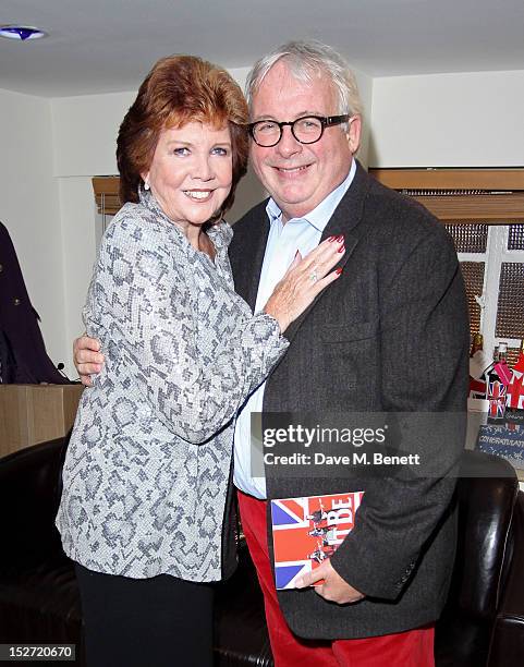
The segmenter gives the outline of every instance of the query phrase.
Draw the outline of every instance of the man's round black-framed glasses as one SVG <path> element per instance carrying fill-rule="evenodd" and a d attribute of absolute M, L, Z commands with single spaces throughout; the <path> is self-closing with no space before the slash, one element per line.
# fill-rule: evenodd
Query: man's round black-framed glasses
<path fill-rule="evenodd" d="M 294 121 L 282 121 L 280 123 L 273 120 L 261 120 L 249 123 L 247 126 L 256 144 L 264 148 L 270 148 L 282 138 L 282 128 L 284 125 L 290 125 L 293 136 L 301 144 L 314 144 L 321 138 L 326 128 L 345 123 L 350 118 L 349 113 L 342 116 L 303 116 Z"/>

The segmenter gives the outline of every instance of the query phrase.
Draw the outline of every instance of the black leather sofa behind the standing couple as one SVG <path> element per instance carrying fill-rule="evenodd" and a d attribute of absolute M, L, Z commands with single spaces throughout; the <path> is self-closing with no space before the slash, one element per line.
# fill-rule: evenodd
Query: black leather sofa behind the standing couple
<path fill-rule="evenodd" d="M 84 666 L 74 570 L 53 525 L 64 446 L 53 440 L 0 459 L 0 643 L 76 644 L 75 664 Z M 501 459 L 464 452 L 463 470 L 460 541 L 437 624 L 437 666 L 522 667 L 524 494 Z M 261 594 L 242 544 L 236 573 L 217 585 L 215 630 L 217 666 L 273 664 Z"/>

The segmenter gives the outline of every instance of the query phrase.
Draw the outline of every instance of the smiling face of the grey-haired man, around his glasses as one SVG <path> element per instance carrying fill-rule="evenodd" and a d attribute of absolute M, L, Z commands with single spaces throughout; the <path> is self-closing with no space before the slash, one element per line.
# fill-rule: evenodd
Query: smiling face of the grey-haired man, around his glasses
<path fill-rule="evenodd" d="M 269 70 L 253 97 L 252 121 L 293 121 L 302 116 L 336 116 L 337 97 L 330 81 L 297 81 L 284 61 Z M 340 125 L 326 128 L 320 141 L 301 144 L 283 128 L 276 146 L 264 148 L 253 140 L 251 160 L 255 173 L 277 202 L 284 220 L 302 217 L 322 202 L 348 175 L 358 147 L 361 122 L 355 118 L 348 134 Z"/>

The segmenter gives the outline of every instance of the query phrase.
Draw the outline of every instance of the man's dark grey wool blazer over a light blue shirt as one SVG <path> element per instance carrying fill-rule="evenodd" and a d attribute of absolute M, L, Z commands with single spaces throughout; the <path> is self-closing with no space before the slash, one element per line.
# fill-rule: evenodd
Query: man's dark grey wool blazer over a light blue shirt
<path fill-rule="evenodd" d="M 253 306 L 269 223 L 265 203 L 234 227 L 230 257 L 237 292 Z M 468 319 L 451 238 L 426 209 L 358 165 L 322 234 L 344 234 L 343 272 L 287 331 L 291 344 L 270 374 L 264 409 L 284 412 L 465 411 Z M 307 378 L 307 381 L 304 381 Z M 436 453 L 451 466 L 462 434 Z M 333 567 L 366 595 L 339 606 L 313 591 L 282 591 L 293 632 L 364 638 L 438 618 L 454 556 L 454 480 L 276 477 L 268 497 L 365 490 L 353 532 Z"/>

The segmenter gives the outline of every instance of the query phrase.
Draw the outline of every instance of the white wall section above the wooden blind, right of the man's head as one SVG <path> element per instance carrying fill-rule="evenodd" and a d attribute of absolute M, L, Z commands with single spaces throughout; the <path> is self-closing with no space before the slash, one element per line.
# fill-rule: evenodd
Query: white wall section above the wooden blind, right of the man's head
<path fill-rule="evenodd" d="M 524 70 L 375 78 L 369 166 L 524 163 Z"/>

